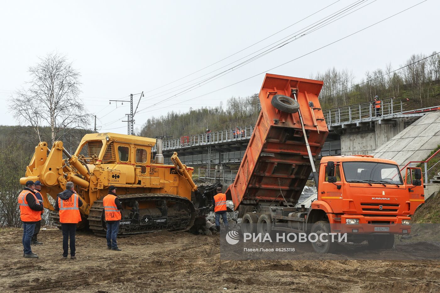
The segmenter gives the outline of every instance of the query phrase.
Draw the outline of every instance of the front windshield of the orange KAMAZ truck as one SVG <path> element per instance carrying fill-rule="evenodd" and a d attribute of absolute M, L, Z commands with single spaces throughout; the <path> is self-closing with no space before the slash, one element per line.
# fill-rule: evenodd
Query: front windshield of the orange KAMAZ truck
<path fill-rule="evenodd" d="M 347 182 L 403 184 L 399 168 L 396 165 L 375 162 L 344 162 L 342 168 Z"/>

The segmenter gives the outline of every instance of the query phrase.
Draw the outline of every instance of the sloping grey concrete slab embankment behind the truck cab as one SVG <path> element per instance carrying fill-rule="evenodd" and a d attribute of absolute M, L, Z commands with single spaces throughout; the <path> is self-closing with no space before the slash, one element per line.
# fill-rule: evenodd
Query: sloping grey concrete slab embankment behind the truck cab
<path fill-rule="evenodd" d="M 440 145 L 440 112 L 425 114 L 370 155 L 392 159 L 400 168 L 409 161 L 422 161 Z"/>

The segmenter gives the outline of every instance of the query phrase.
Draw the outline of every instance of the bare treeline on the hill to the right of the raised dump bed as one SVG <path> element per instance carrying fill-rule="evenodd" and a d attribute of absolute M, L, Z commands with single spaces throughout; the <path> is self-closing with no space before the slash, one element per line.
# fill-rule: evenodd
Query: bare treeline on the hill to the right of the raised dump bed
<path fill-rule="evenodd" d="M 440 54 L 414 54 L 403 65 L 385 65 L 384 69 L 365 72 L 357 80 L 349 69 L 327 69 L 312 75 L 323 80 L 319 95 L 323 109 L 353 105 L 379 98 L 409 98 L 411 107 L 438 105 L 440 94 Z M 432 57 L 428 57 L 434 55 Z M 422 60 L 423 59 L 423 60 Z M 421 61 L 419 61 L 421 60 Z M 408 66 L 407 66 L 408 65 Z M 403 66 L 403 69 L 393 72 Z"/>

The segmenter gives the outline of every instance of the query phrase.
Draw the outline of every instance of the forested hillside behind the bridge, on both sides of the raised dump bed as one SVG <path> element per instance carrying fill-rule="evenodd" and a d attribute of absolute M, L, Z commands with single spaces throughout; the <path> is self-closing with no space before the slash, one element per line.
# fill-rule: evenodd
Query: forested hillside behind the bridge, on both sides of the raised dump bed
<path fill-rule="evenodd" d="M 365 72 L 362 78 L 354 76 L 349 69 L 336 68 L 312 74 L 310 78 L 324 81 L 319 96 L 323 109 L 372 101 L 376 95 L 382 99 L 409 98 L 405 109 L 425 108 L 440 105 L 440 54 L 434 54 L 436 52 L 415 54 L 403 65 L 387 64 L 383 69 Z M 204 133 L 206 128 L 212 131 L 228 129 L 255 123 L 259 112 L 257 94 L 230 98 L 226 105 L 220 103 L 213 108 L 192 109 L 185 113 L 171 111 L 152 117 L 143 124 L 139 135 L 177 138 Z"/>

